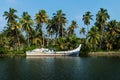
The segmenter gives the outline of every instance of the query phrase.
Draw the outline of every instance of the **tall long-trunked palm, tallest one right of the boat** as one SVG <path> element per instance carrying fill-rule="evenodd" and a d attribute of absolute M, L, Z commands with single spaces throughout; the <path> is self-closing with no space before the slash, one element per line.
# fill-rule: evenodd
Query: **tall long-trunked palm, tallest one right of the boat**
<path fill-rule="evenodd" d="M 104 27 L 107 19 L 109 19 L 110 16 L 107 13 L 106 9 L 100 8 L 98 13 L 96 14 L 96 26 L 99 27 L 101 30 L 101 41 L 100 41 L 100 48 L 102 46 L 102 41 L 103 41 L 103 32 L 104 32 Z"/>

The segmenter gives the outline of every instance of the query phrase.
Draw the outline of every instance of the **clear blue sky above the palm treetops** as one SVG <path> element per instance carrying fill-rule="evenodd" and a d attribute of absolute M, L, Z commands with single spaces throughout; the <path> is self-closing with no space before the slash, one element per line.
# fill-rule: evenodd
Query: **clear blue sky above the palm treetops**
<path fill-rule="evenodd" d="M 75 20 L 79 28 L 85 27 L 82 16 L 87 11 L 94 15 L 94 21 L 91 22 L 91 26 L 94 25 L 96 14 L 100 8 L 107 9 L 110 20 L 116 19 L 120 21 L 120 0 L 0 0 L 0 31 L 3 30 L 6 24 L 3 17 L 4 11 L 8 11 L 9 8 L 16 9 L 16 14 L 19 17 L 24 11 L 27 11 L 33 19 L 35 14 L 41 9 L 46 10 L 49 18 L 57 10 L 62 10 L 68 20 L 67 25 L 72 20 Z M 76 30 L 77 34 L 79 33 L 78 29 Z"/>

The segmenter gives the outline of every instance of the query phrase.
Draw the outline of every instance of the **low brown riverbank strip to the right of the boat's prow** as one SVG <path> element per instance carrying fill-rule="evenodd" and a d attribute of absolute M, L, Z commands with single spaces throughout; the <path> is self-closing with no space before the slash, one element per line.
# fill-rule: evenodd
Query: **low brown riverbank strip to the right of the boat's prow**
<path fill-rule="evenodd" d="M 90 52 L 88 56 L 120 57 L 120 52 Z"/>

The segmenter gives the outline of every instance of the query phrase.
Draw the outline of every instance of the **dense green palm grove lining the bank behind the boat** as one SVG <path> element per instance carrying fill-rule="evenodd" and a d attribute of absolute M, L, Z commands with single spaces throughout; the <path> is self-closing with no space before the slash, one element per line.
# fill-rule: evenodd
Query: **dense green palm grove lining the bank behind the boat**
<path fill-rule="evenodd" d="M 109 20 L 106 9 L 100 8 L 95 20 L 94 15 L 87 11 L 82 18 L 86 26 L 82 28 L 79 28 L 75 20 L 66 26 L 68 20 L 62 10 L 53 13 L 52 18 L 49 18 L 45 10 L 40 10 L 35 14 L 34 20 L 28 12 L 23 12 L 20 17 L 16 13 L 17 10 L 9 8 L 9 11 L 3 14 L 7 23 L 0 33 L 0 54 L 25 53 L 40 47 L 69 50 L 79 44 L 82 44 L 81 55 L 120 50 L 120 22 Z M 94 21 L 92 26 L 91 20 Z M 76 28 L 85 38 L 76 36 Z"/>

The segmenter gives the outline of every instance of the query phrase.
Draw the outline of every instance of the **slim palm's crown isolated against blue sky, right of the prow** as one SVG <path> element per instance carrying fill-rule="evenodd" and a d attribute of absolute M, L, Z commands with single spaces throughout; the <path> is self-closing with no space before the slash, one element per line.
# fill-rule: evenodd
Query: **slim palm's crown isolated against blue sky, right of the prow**
<path fill-rule="evenodd" d="M 87 11 L 84 15 L 83 15 L 83 18 L 82 20 L 84 21 L 84 24 L 85 25 L 90 25 L 90 20 L 93 20 L 93 15 L 91 15 L 91 12 Z M 89 28 L 87 28 L 87 31 L 88 31 Z"/>

